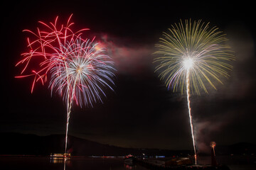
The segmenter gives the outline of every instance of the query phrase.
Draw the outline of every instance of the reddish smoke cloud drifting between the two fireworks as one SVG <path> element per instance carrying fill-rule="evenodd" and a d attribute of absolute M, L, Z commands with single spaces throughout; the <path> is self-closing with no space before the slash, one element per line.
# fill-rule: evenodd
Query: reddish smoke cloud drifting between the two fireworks
<path fill-rule="evenodd" d="M 118 74 L 140 74 L 151 67 L 154 45 L 136 44 L 129 38 L 117 38 L 114 35 L 102 34 L 99 37 L 107 54 L 114 60 Z"/>

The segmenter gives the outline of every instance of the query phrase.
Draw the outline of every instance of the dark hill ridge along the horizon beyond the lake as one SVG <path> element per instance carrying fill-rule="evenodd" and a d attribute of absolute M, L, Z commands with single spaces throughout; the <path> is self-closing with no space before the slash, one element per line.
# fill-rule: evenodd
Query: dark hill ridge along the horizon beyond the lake
<path fill-rule="evenodd" d="M 24 135 L 20 133 L 0 133 L 0 154 L 33 154 L 50 155 L 51 153 L 63 153 L 65 147 L 65 135 Z M 210 150 L 210 147 L 209 147 Z M 166 157 L 180 155 L 193 155 L 189 150 L 167 149 L 136 149 L 103 145 L 98 142 L 68 137 L 68 152 L 73 156 L 124 156 L 127 154 L 164 155 Z M 256 145 L 250 143 L 238 143 L 235 145 L 220 146 L 215 149 L 216 154 L 256 154 Z"/>

